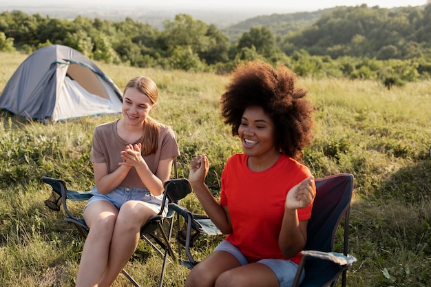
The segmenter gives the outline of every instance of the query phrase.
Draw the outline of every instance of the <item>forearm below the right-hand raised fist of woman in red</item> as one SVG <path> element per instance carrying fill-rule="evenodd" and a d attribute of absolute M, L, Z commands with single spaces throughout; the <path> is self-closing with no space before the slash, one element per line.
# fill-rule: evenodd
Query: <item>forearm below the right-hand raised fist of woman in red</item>
<path fill-rule="evenodd" d="M 305 224 L 305 227 L 304 227 Z M 284 257 L 294 257 L 306 244 L 306 222 L 299 222 L 297 209 L 285 209 L 278 245 Z"/>

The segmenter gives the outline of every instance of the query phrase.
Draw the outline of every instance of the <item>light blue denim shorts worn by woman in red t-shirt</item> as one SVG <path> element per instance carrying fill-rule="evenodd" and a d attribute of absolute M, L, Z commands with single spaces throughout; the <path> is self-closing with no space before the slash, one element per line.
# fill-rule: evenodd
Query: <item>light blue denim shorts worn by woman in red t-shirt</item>
<path fill-rule="evenodd" d="M 217 247 L 215 247 L 214 251 L 226 251 L 231 253 L 236 259 L 238 259 L 238 262 L 240 262 L 241 265 L 249 264 L 246 257 L 241 253 L 240 249 L 231 242 L 227 240 L 223 240 L 218 244 Z M 295 279 L 296 270 L 298 268 L 297 264 L 295 262 L 292 262 L 290 260 L 283 260 L 283 259 L 260 259 L 257 261 L 257 263 L 264 264 L 271 268 L 273 270 L 273 273 L 275 273 L 275 276 L 277 276 L 278 282 L 280 284 L 280 287 L 291 287 L 293 284 L 293 280 Z M 301 275 L 301 279 L 299 282 L 302 282 L 304 280 L 305 274 L 304 272 Z"/>

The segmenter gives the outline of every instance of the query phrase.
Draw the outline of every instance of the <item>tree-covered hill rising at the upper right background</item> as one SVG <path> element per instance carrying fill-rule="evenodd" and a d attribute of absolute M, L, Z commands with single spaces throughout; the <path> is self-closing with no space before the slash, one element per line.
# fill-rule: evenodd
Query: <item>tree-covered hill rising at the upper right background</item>
<path fill-rule="evenodd" d="M 426 11 L 419 7 L 338 7 L 322 14 L 312 25 L 282 37 L 280 42 L 290 43 L 286 53 L 304 49 L 334 58 L 412 59 L 430 47 L 423 38 L 424 31 L 431 27 Z"/>

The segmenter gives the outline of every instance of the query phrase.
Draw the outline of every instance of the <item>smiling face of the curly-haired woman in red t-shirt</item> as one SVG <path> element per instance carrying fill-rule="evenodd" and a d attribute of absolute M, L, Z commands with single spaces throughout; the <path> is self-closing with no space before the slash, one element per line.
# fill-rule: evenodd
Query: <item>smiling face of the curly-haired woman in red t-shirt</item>
<path fill-rule="evenodd" d="M 275 125 L 262 107 L 247 107 L 242 115 L 238 135 L 242 151 L 256 160 L 271 161 L 280 157 L 275 147 Z"/>

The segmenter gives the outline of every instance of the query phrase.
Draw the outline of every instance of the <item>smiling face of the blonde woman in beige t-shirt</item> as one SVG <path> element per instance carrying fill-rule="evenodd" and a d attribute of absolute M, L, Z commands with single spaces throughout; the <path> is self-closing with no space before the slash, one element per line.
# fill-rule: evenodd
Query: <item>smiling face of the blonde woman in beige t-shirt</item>
<path fill-rule="evenodd" d="M 155 106 L 145 94 L 135 87 L 125 90 L 123 96 L 123 118 L 127 125 L 143 125 L 149 111 Z"/>

